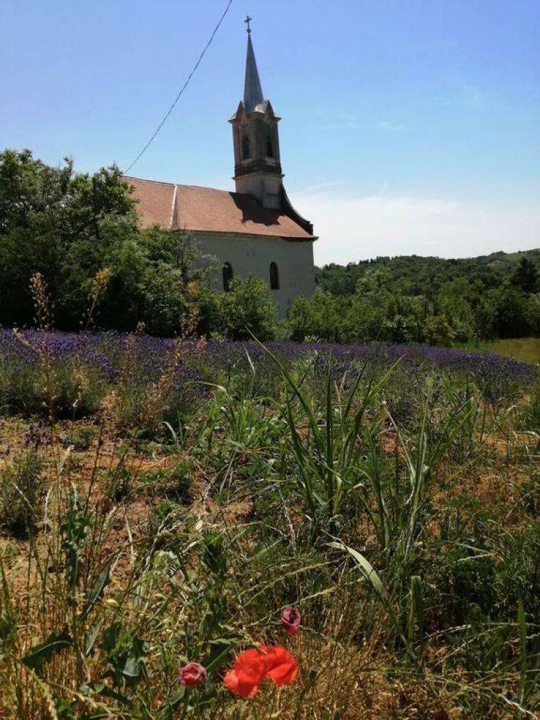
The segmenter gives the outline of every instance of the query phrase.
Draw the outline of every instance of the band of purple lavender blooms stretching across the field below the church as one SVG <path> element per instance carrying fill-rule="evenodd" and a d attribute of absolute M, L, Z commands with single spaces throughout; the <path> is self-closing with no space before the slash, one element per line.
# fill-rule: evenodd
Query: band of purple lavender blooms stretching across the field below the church
<path fill-rule="evenodd" d="M 12 330 L 0 328 L 0 356 L 23 364 L 35 364 L 37 351 L 46 348 L 53 361 L 73 362 L 99 370 L 108 382 L 116 382 L 126 372 L 125 359 L 128 348 L 132 356 L 132 379 L 153 381 L 170 364 L 175 349 L 173 338 L 150 336 L 127 336 L 117 332 L 94 333 L 41 333 L 38 330 L 24 330 L 24 342 Z M 501 379 L 528 382 L 535 377 L 530 365 L 491 353 L 469 352 L 454 348 L 407 345 L 330 345 L 328 343 L 269 343 L 269 348 L 284 361 L 297 361 L 315 356 L 315 361 L 327 364 L 331 356 L 335 372 L 352 371 L 360 364 L 403 365 L 430 364 L 457 372 L 468 372 L 479 377 L 498 376 Z M 184 379 L 197 373 L 190 371 L 192 361 L 210 365 L 237 365 L 246 362 L 249 355 L 256 365 L 268 364 L 264 349 L 256 343 L 233 341 L 210 341 L 201 344 L 186 340 L 181 346 L 182 361 L 180 374 Z M 123 371 L 122 371 L 123 369 Z M 136 376 L 136 377 L 135 377 Z"/>

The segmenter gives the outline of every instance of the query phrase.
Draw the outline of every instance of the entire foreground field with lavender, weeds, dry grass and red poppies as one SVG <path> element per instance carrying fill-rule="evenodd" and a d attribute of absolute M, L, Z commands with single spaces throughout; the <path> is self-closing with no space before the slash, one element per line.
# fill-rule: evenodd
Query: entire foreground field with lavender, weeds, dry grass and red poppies
<path fill-rule="evenodd" d="M 0 329 L 0 714 L 534 717 L 537 370 Z"/>

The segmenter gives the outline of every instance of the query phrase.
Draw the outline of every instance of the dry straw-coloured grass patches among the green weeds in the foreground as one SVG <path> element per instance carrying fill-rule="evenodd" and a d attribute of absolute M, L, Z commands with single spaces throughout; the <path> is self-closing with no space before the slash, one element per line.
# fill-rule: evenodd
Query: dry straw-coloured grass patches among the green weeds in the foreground
<path fill-rule="evenodd" d="M 142 572 L 137 574 L 145 562 L 141 558 L 145 557 L 156 535 L 159 535 L 160 547 L 167 550 L 171 546 L 176 549 L 180 545 L 183 551 L 184 548 L 197 546 L 205 531 L 213 531 L 228 539 L 236 553 L 235 567 L 230 568 L 230 573 L 240 577 L 239 582 L 244 583 L 240 589 L 235 589 L 228 600 L 228 611 L 232 617 L 236 612 L 236 598 L 245 597 L 252 590 L 256 593 L 257 584 L 266 587 L 268 581 L 269 590 L 267 593 L 265 591 L 265 595 L 271 597 L 274 592 L 277 595 L 276 588 L 286 584 L 283 575 L 287 572 L 287 556 L 290 553 L 287 533 L 290 528 L 294 540 L 301 534 L 306 522 L 303 510 L 294 505 L 287 510 L 288 525 L 280 525 L 280 528 L 284 526 L 287 529 L 280 530 L 281 538 L 273 541 L 282 549 L 283 557 L 276 564 L 283 564 L 283 575 L 279 575 L 282 572 L 279 570 L 274 578 L 271 574 L 275 568 L 269 564 L 268 569 L 263 567 L 260 575 L 249 577 L 241 566 L 250 562 L 250 554 L 259 547 L 258 541 L 248 536 L 251 524 L 260 522 L 259 518 L 254 518 L 256 497 L 253 495 L 253 486 L 239 485 L 231 492 L 216 493 L 212 485 L 214 469 L 207 464 L 206 458 L 197 456 L 189 469 L 189 503 L 178 510 L 171 528 L 158 528 L 156 531 L 151 520 L 161 498 L 152 482 L 145 478 L 167 475 L 184 459 L 186 451 L 171 451 L 170 446 L 158 444 L 149 450 L 144 444 L 121 441 L 110 426 L 105 430 L 96 426 L 94 441 L 89 449 L 60 451 L 60 438 L 73 436 L 88 424 L 83 421 L 66 421 L 55 425 L 53 444 L 46 453 L 44 472 L 47 485 L 58 488 L 58 503 L 60 496 L 65 500 L 70 486 L 75 485 L 81 498 L 87 498 L 89 511 L 96 518 L 98 530 L 94 537 L 94 552 L 90 553 L 91 567 L 102 567 L 112 562 L 110 583 L 100 602 L 103 623 L 122 620 L 130 627 L 138 627 L 138 623 L 142 623 L 139 629 L 150 638 L 149 664 L 158 662 L 160 644 L 164 647 L 174 638 L 181 646 L 178 639 L 181 628 L 193 619 L 192 607 L 189 606 L 191 590 L 183 585 L 185 578 L 179 570 L 174 575 L 156 573 L 155 577 L 150 570 L 148 577 L 143 580 Z M 11 462 L 13 449 L 22 446 L 26 431 L 27 423 L 22 420 L 0 420 L 0 472 L 2 467 Z M 301 434 L 305 440 L 306 433 Z M 217 437 L 220 441 L 226 439 L 225 431 L 220 428 Z M 382 456 L 390 460 L 397 458 L 403 467 L 405 451 L 397 433 L 386 429 L 379 433 L 377 440 Z M 494 516 L 499 518 L 500 531 L 513 531 L 525 526 L 528 518 L 520 499 L 523 495 L 522 486 L 529 474 L 516 458 L 534 453 L 537 438 L 527 433 L 494 431 L 483 433 L 481 438 L 475 438 L 475 442 L 474 454 L 459 474 L 456 474 L 456 465 L 451 457 L 444 459 L 438 466 L 436 479 L 426 490 L 426 501 L 433 505 L 433 518 L 442 516 L 450 502 L 459 503 L 460 499 L 465 501 L 474 498 L 489 507 Z M 259 449 L 238 449 L 234 455 L 236 467 L 248 466 L 257 460 L 259 454 Z M 120 465 L 130 478 L 129 490 L 125 497 L 112 500 L 108 484 Z M 62 467 L 60 475 L 59 466 Z M 56 501 L 55 496 L 53 500 Z M 57 509 L 53 500 L 50 501 L 51 514 Z M 464 509 L 464 516 L 468 512 Z M 276 524 L 279 524 L 279 518 L 269 519 L 276 519 Z M 60 597 L 65 569 L 51 564 L 54 555 L 51 551 L 51 534 L 48 528 L 42 529 L 45 532 L 38 533 L 31 544 L 28 540 L 7 536 L 0 539 L 0 556 L 6 582 L 11 588 L 14 610 L 19 617 L 24 618 L 24 628 L 21 629 L 17 647 L 19 657 L 32 644 L 66 621 L 62 617 L 66 613 L 66 606 L 62 605 L 63 599 Z M 246 542 L 242 545 L 237 538 L 241 539 L 244 534 Z M 436 539 L 440 534 L 438 520 L 433 519 L 431 524 L 423 528 L 424 539 Z M 377 544 L 366 516 L 357 518 L 356 537 L 362 539 L 365 546 Z M 200 588 L 203 588 L 204 582 L 208 580 L 208 572 L 204 571 L 206 577 L 204 573 L 201 574 L 199 559 L 190 557 L 186 561 L 186 568 L 193 574 L 193 578 L 198 577 L 198 580 L 192 582 L 199 582 Z M 484 678 L 483 684 L 474 683 L 465 668 L 459 671 L 455 667 L 451 669 L 451 647 L 438 642 L 428 644 L 420 664 L 410 660 L 404 662 L 402 649 L 389 644 L 387 640 L 387 617 L 381 608 L 378 608 L 376 618 L 364 616 L 364 612 L 374 612 L 366 583 L 358 576 L 351 580 L 344 569 L 341 572 L 339 577 L 333 576 L 333 585 L 320 591 L 320 595 L 329 600 L 321 603 L 327 613 L 323 618 L 323 629 L 310 627 L 310 618 L 307 616 L 302 631 L 294 638 L 287 639 L 289 649 L 300 666 L 296 683 L 291 688 L 276 689 L 266 682 L 253 701 L 232 704 L 230 698 L 227 698 L 227 701 L 214 706 L 211 714 L 203 713 L 200 717 L 257 720 L 263 717 L 285 720 L 465 720 L 472 716 L 469 714 L 472 706 L 476 708 L 475 720 L 480 717 L 495 720 L 524 716 L 501 693 L 501 685 L 504 685 L 508 693 L 511 689 L 511 693 L 516 694 L 515 673 L 508 675 L 508 680 L 501 680 L 495 672 L 487 680 Z M 246 588 L 249 582 L 253 583 L 253 588 Z M 43 598 L 45 586 L 48 588 L 46 600 Z M 144 611 L 141 611 L 137 603 L 143 586 L 145 592 L 148 590 L 148 597 L 143 603 Z M 58 592 L 58 597 L 55 597 L 55 592 Z M 40 616 L 44 608 L 50 611 L 50 618 Z M 248 613 L 245 613 L 245 617 L 248 617 Z M 249 619 L 251 623 L 243 629 L 238 629 L 240 621 L 238 627 L 235 627 L 244 644 L 276 639 L 274 620 Z M 365 631 L 366 620 L 369 621 L 369 632 Z M 312 625 L 320 624 L 312 622 Z M 173 680 L 169 677 L 168 682 L 176 682 L 177 664 L 175 660 Z M 92 657 L 85 660 L 87 679 L 105 670 L 103 660 L 94 661 Z M 0 688 L 4 692 L 4 697 L 0 696 L 0 717 L 14 717 L 7 710 L 2 711 L 2 706 L 19 708 L 19 716 L 29 720 L 55 717 L 55 693 L 63 697 L 71 694 L 75 706 L 81 711 L 81 717 L 84 717 L 84 711 L 100 706 L 98 701 L 94 702 L 94 699 L 82 697 L 78 693 L 74 682 L 75 661 L 67 653 L 59 654 L 51 662 L 47 683 L 20 663 L 12 667 L 10 673 L 11 688 L 6 685 L 5 675 L 3 682 L 0 680 Z M 166 684 L 160 685 L 161 680 L 159 678 L 158 682 L 154 678 L 154 684 L 148 688 L 148 718 L 158 718 L 158 714 L 153 714 L 153 711 L 166 696 Z M 28 687 L 27 697 L 23 701 L 17 700 L 15 688 L 25 685 Z M 222 697 L 222 688 L 218 692 Z M 21 708 L 24 708 L 22 715 Z M 111 717 L 126 716 L 115 712 L 111 710 Z M 529 713 L 529 716 L 532 715 Z"/>

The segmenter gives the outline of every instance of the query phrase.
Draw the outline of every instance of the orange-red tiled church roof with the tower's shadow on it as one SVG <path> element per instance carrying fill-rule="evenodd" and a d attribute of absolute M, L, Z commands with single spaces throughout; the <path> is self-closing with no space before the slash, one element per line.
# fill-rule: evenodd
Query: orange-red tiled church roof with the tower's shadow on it
<path fill-rule="evenodd" d="M 143 228 L 205 230 L 210 233 L 246 233 L 294 240 L 312 235 L 281 210 L 268 210 L 250 195 L 211 187 L 125 177 L 138 200 Z"/>

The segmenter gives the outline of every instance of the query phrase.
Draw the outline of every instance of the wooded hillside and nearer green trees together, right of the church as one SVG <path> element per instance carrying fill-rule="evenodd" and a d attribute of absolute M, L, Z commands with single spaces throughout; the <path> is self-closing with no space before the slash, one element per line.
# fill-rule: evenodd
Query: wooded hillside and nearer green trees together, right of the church
<path fill-rule="evenodd" d="M 540 337 L 540 249 L 330 264 L 316 280 L 313 296 L 289 308 L 294 340 L 451 345 Z"/>

